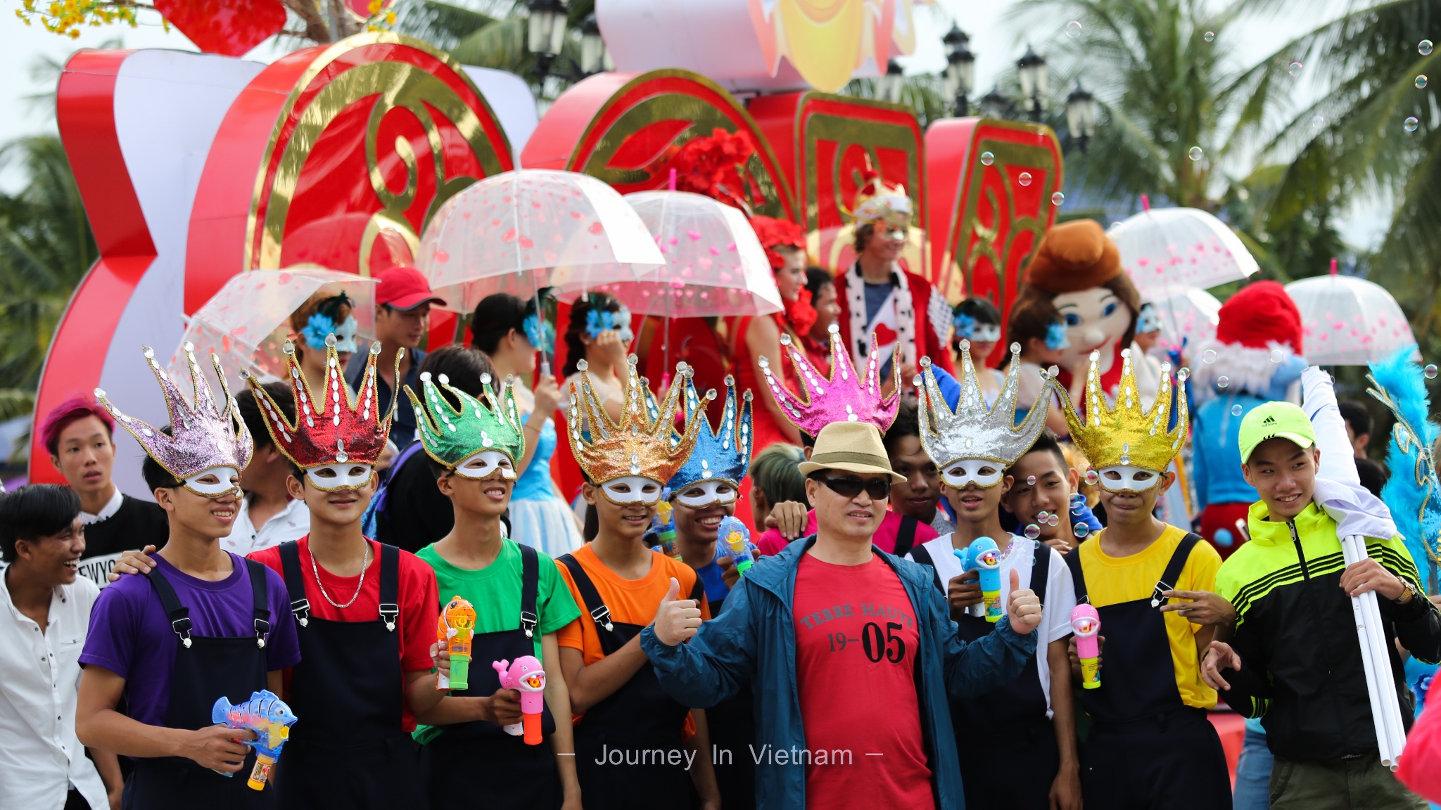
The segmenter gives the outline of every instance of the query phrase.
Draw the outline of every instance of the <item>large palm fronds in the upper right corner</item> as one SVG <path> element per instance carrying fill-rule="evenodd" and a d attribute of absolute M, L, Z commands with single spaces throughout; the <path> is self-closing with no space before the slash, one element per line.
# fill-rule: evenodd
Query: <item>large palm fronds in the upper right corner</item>
<path fill-rule="evenodd" d="M 1254 0 L 1301 13 L 1304 1 Z M 1267 222 L 1339 200 L 1393 205 L 1370 261 L 1372 277 L 1411 308 L 1418 336 L 1441 307 L 1441 53 L 1422 39 L 1441 33 L 1441 0 L 1357 3 L 1333 22 L 1285 43 L 1238 81 L 1251 95 L 1238 134 L 1278 166 L 1262 205 Z M 1300 65 L 1300 66 L 1297 66 Z M 1317 86 L 1295 104 L 1293 72 Z M 1311 272 L 1323 272 L 1324 259 Z M 1425 349 L 1425 346 L 1424 346 Z"/>

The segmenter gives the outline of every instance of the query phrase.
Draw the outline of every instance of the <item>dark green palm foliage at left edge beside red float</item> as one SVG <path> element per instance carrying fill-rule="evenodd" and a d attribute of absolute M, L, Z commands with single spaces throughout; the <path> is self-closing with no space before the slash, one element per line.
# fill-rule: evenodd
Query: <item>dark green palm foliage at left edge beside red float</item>
<path fill-rule="evenodd" d="M 27 184 L 0 195 L 0 419 L 33 408 L 50 336 L 98 258 L 65 147 L 32 135 L 0 147 Z"/>

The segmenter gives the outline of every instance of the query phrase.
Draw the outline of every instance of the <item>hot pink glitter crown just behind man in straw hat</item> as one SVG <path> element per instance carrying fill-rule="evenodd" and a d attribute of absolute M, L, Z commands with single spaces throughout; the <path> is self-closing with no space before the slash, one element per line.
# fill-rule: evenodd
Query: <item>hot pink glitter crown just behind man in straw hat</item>
<path fill-rule="evenodd" d="M 771 395 L 781 405 L 785 418 L 807 435 L 817 435 L 831 422 L 870 422 L 885 434 L 896 421 L 901 406 L 901 386 L 893 385 L 891 396 L 880 395 L 880 365 L 876 363 L 876 334 L 870 333 L 870 352 L 866 359 L 866 376 L 856 373 L 850 353 L 840 340 L 840 327 L 830 324 L 830 378 L 811 365 L 800 346 L 791 344 L 788 334 L 781 334 L 781 353 L 790 355 L 795 376 L 801 380 L 806 401 L 801 402 L 771 372 L 771 362 L 761 357 L 761 370 Z M 891 379 L 901 372 L 901 347 L 896 346 L 891 359 Z"/>

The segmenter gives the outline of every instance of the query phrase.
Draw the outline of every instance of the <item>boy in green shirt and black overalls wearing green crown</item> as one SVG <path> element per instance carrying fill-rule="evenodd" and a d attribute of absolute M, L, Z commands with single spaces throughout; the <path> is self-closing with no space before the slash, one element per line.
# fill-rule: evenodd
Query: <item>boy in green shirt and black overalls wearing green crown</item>
<path fill-rule="evenodd" d="M 424 404 L 409 386 L 405 392 L 435 484 L 455 510 L 451 532 L 416 556 L 435 569 L 441 604 L 461 597 L 476 608 L 470 687 L 452 695 L 509 703 L 504 692 L 497 695 L 491 662 L 536 656 L 548 673 L 542 726 L 550 745 L 526 745 L 486 721 L 440 726 L 429 742 L 431 806 L 558 807 L 563 800 L 566 809 L 579 809 L 571 698 L 559 676 L 555 631 L 581 611 L 549 556 L 501 536 L 500 516 L 514 489 L 516 460 L 525 454 L 512 383 L 506 380 L 496 396 L 490 375 L 483 375 L 477 399 L 448 385 L 445 375 L 438 382 L 421 375 Z M 514 709 L 506 706 L 506 718 L 514 718 Z"/>

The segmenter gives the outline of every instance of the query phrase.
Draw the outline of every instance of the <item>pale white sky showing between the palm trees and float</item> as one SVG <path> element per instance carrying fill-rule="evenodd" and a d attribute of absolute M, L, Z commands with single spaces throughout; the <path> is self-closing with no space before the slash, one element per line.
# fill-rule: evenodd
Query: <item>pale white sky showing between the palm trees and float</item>
<path fill-rule="evenodd" d="M 1259 61 L 1321 20 L 1334 17 L 1349 1 L 1311 0 L 1306 3 L 1306 13 L 1290 13 L 1236 26 L 1233 30 L 1239 42 L 1233 43 L 1232 52 L 1241 61 Z M 53 91 L 53 76 L 46 81 L 36 81 L 32 76 L 32 68 L 45 58 L 63 63 L 69 53 L 79 48 L 114 46 L 117 39 L 122 48 L 196 49 L 182 33 L 173 29 L 164 30 L 156 14 L 141 14 L 141 22 L 146 25 L 134 29 L 124 26 L 85 29 L 79 39 L 71 40 L 46 32 L 39 23 L 26 26 L 9 13 L 16 4 L 6 1 L 6 13 L 0 13 L 0 42 L 4 43 L 4 48 L 0 48 L 0 75 L 12 76 L 12 81 L 0 82 L 0 143 L 27 134 L 55 131 L 50 110 L 26 101 L 26 97 Z M 970 49 L 976 53 L 976 95 L 983 95 L 996 84 L 999 75 L 1014 65 L 1027 42 L 1035 43 L 1043 53 L 1046 40 L 1059 35 L 1069 22 L 1042 17 L 1043 22 L 1032 19 L 1029 27 L 1022 27 L 1022 23 L 1007 19 L 1016 4 L 1014 0 L 934 0 L 931 6 L 916 6 L 916 52 L 901 62 L 908 74 L 932 74 L 944 69 L 945 52 L 941 35 L 950 30 L 954 20 L 971 36 Z M 1293 3 L 1293 7 L 1300 6 L 1301 3 Z M 265 43 L 246 58 L 271 62 L 280 53 L 275 45 Z M 14 167 L 0 169 L 0 189 L 13 192 L 22 182 L 23 176 Z M 1383 205 L 1359 200 L 1340 223 L 1342 236 L 1353 246 L 1373 248 L 1385 233 L 1388 219 Z"/>

